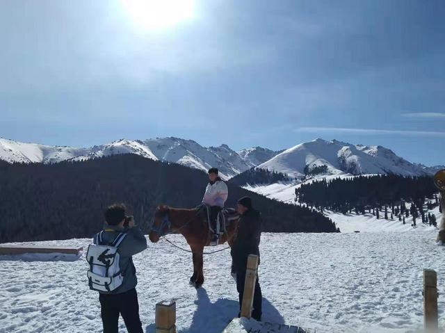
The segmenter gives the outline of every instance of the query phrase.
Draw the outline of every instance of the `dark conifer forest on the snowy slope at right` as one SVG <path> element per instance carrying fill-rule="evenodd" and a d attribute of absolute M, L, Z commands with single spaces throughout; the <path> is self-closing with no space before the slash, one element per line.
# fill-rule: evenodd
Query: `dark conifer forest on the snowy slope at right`
<path fill-rule="evenodd" d="M 373 213 L 377 218 L 405 218 L 412 216 L 423 223 L 436 225 L 434 214 L 426 209 L 439 205 L 437 188 L 432 177 L 403 177 L 396 174 L 322 179 L 296 188 L 296 201 L 323 212 Z M 411 203 L 409 208 L 407 203 Z M 426 208 L 426 209 L 425 209 Z M 440 210 L 440 206 L 439 206 Z M 442 212 L 442 211 L 441 211 Z"/>

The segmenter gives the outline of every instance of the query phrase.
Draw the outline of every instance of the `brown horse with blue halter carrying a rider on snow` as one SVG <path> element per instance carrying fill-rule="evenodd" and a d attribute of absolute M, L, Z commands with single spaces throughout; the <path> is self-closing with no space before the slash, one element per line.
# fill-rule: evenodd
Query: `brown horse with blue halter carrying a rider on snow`
<path fill-rule="evenodd" d="M 220 244 L 227 242 L 232 247 L 239 220 L 239 216 L 236 214 L 235 216 L 236 219 L 227 226 L 227 232 L 221 236 Z M 204 246 L 209 246 L 211 241 L 206 210 L 199 207 L 177 209 L 165 205 L 158 206 L 154 213 L 149 239 L 152 243 L 156 243 L 165 234 L 181 234 L 186 238 L 193 254 L 193 275 L 190 283 L 196 288 L 202 286 L 204 283 L 202 272 Z"/>

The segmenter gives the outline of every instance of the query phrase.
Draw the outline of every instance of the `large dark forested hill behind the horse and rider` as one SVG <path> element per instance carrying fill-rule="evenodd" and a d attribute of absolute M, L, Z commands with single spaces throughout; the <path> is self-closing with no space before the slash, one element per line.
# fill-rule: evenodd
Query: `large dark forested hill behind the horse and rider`
<path fill-rule="evenodd" d="M 193 208 L 200 204 L 207 174 L 175 163 L 134 154 L 89 161 L 10 164 L 0 161 L 0 242 L 83 238 L 103 225 L 103 211 L 113 202 L 147 232 L 156 206 Z M 226 206 L 252 197 L 264 218 L 264 232 L 336 232 L 323 214 L 270 200 L 227 184 Z"/>

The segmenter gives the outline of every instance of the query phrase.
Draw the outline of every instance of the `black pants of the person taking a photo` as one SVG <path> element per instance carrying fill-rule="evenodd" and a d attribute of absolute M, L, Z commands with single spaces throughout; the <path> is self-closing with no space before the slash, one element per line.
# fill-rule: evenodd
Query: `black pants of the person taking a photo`
<path fill-rule="evenodd" d="M 139 318 L 138 294 L 136 289 L 124 293 L 99 294 L 104 333 L 118 333 L 119 314 L 129 333 L 143 333 Z"/>

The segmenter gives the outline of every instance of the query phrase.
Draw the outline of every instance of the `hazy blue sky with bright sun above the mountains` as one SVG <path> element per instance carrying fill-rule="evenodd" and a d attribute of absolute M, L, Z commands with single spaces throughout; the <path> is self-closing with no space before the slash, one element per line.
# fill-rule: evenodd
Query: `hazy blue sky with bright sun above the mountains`
<path fill-rule="evenodd" d="M 445 164 L 445 1 L 3 0 L 0 137 L 324 138 Z"/>

